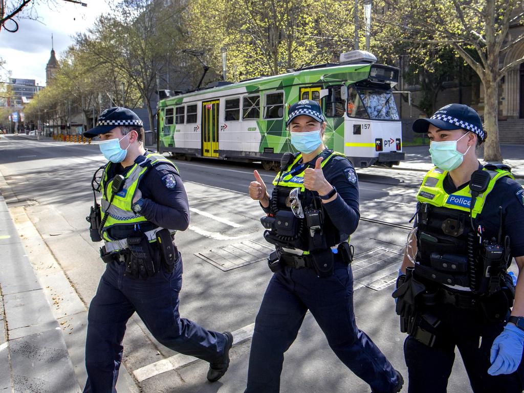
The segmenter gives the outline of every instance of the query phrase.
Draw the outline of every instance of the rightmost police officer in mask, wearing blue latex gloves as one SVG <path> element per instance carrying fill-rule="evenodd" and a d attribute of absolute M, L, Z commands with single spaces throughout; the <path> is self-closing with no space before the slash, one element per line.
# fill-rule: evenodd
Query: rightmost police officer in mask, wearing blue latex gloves
<path fill-rule="evenodd" d="M 486 133 L 472 108 L 446 105 L 413 130 L 427 133 L 435 168 L 394 292 L 409 392 L 445 392 L 455 346 L 475 393 L 521 392 L 524 279 L 515 290 L 506 269 L 511 257 L 524 268 L 524 190 L 508 167 L 477 161 Z"/>

